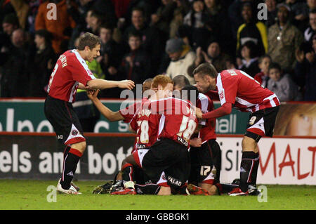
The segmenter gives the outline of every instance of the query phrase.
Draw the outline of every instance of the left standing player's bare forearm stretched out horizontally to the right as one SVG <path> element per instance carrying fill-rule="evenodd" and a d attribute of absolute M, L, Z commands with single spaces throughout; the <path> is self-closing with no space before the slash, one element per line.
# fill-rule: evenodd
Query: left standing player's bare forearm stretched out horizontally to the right
<path fill-rule="evenodd" d="M 131 80 L 121 80 L 121 81 L 111 81 L 111 80 L 105 80 L 105 79 L 92 79 L 89 80 L 87 83 L 87 86 L 89 88 L 94 89 L 104 89 L 104 88 L 127 88 L 131 90 L 135 87 L 135 84 Z"/>

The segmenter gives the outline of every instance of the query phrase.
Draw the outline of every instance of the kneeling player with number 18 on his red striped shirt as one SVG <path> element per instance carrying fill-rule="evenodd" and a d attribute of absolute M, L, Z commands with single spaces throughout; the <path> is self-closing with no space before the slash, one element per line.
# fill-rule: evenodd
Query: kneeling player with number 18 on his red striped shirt
<path fill-rule="evenodd" d="M 197 88 L 191 86 L 187 92 L 190 91 L 197 91 Z M 159 140 L 151 147 L 138 149 L 124 159 L 121 173 L 125 189 L 112 192 L 112 195 L 136 195 L 136 192 L 149 195 L 171 195 L 171 192 L 178 192 L 181 195 L 209 195 L 200 187 L 187 185 L 190 174 L 190 155 L 187 149 L 190 147 L 190 137 L 197 126 L 194 105 L 176 98 L 152 100 L 143 103 L 135 118 L 136 124 L 147 124 L 150 119 L 158 118 Z M 152 128 L 154 127 L 149 127 Z M 143 138 L 146 142 L 147 130 L 138 129 L 136 138 Z M 154 184 L 135 185 L 135 166 L 141 167 Z"/>

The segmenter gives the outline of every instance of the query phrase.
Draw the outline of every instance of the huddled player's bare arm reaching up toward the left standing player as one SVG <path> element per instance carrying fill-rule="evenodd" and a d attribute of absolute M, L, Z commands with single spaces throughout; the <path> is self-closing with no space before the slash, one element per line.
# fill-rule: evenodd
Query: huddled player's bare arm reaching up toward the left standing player
<path fill-rule="evenodd" d="M 96 91 L 87 91 L 86 94 L 88 95 L 88 98 L 93 102 L 94 105 L 98 108 L 101 114 L 103 114 L 104 117 L 106 117 L 109 121 L 121 121 L 124 120 L 124 117 L 121 116 L 121 114 L 117 112 L 113 112 L 109 108 L 105 107 L 103 103 L 98 99 L 99 90 Z"/>

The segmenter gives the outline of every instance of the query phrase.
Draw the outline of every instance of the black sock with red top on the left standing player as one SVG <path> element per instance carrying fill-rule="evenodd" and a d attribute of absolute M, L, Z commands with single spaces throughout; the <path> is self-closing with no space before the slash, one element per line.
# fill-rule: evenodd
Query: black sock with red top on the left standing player
<path fill-rule="evenodd" d="M 70 148 L 69 152 L 65 155 L 62 179 L 60 180 L 63 189 L 68 190 L 70 188 L 70 183 L 72 182 L 72 178 L 74 178 L 74 173 L 76 172 L 77 164 L 81 156 L 81 152 L 72 148 Z"/>

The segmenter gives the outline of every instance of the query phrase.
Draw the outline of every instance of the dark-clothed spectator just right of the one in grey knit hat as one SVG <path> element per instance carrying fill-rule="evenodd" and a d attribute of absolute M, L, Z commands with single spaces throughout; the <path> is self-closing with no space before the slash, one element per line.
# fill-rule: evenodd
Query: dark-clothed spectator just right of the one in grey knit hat
<path fill-rule="evenodd" d="M 189 74 L 195 70 L 195 68 L 201 65 L 203 62 L 209 62 L 216 67 L 216 70 L 223 71 L 226 69 L 226 61 L 230 58 L 227 54 L 220 50 L 218 42 L 211 41 L 209 47 L 207 48 L 207 53 L 202 50 L 201 47 L 197 48 L 196 51 L 197 58 L 192 66 L 190 66 Z"/>

